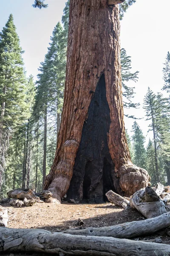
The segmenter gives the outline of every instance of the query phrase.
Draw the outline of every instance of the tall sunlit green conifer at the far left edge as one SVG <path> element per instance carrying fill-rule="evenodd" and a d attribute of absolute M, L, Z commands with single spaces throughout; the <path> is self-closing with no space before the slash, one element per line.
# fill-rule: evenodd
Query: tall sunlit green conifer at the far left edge
<path fill-rule="evenodd" d="M 0 186 L 9 134 L 25 119 L 26 80 L 22 48 L 10 15 L 0 33 Z"/>

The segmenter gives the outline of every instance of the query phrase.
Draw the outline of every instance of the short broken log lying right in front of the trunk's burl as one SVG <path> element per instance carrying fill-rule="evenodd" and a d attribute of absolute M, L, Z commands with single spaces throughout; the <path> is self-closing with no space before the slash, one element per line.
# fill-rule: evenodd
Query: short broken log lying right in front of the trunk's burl
<path fill-rule="evenodd" d="M 129 204 L 129 201 L 127 199 L 123 198 L 121 195 L 116 194 L 112 190 L 109 190 L 106 193 L 106 196 L 112 204 L 123 207 L 124 209 L 126 209 L 127 205 Z"/>

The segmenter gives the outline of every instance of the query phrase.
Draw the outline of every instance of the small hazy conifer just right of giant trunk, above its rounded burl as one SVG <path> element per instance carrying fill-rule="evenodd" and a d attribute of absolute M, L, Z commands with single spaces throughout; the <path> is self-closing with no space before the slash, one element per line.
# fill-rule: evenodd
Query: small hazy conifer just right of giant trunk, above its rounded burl
<path fill-rule="evenodd" d="M 137 166 L 146 169 L 146 151 L 144 148 L 145 138 L 143 136 L 142 130 L 135 121 L 132 126 L 133 131 L 133 150 L 134 157 L 133 162 Z"/>

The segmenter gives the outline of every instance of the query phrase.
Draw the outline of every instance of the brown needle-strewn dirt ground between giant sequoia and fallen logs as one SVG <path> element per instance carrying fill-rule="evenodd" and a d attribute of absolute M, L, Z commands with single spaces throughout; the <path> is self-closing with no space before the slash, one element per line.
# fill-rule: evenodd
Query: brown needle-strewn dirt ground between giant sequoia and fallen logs
<path fill-rule="evenodd" d="M 142 214 L 133 209 L 122 209 L 111 203 L 103 204 L 46 204 L 36 203 L 32 207 L 11 207 L 3 204 L 9 209 L 9 228 L 41 228 L 51 230 L 66 230 L 79 227 L 78 219 L 84 221 L 83 227 L 113 226 L 130 221 L 145 219 Z M 150 236 L 136 238 L 135 240 L 149 240 L 159 238 L 163 243 L 170 244 L 170 230 L 161 230 Z M 36 256 L 37 253 L 6 253 L 6 256 Z M 41 256 L 43 254 L 41 253 Z M 44 254 L 45 255 L 45 254 Z"/>

